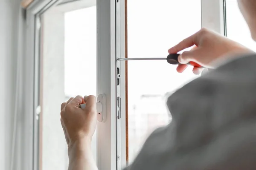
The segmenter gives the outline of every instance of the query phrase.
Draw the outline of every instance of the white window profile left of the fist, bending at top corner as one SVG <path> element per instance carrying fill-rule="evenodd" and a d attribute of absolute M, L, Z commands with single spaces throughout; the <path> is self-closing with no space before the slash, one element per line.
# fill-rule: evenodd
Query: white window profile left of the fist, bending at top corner
<path fill-rule="evenodd" d="M 24 68 L 24 103 L 26 114 L 25 135 L 26 155 L 24 156 L 24 164 L 27 170 L 39 169 L 39 49 L 40 49 L 40 29 L 41 22 L 39 14 L 45 8 L 56 3 L 56 0 L 33 1 L 26 9 L 26 51 L 25 59 L 23 59 Z M 32 104 L 32 105 L 31 105 Z"/>

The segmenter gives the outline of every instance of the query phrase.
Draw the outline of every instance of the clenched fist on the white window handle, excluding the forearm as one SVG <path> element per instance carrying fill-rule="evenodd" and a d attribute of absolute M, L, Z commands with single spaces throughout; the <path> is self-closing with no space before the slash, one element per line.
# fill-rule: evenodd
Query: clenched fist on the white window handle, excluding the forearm
<path fill-rule="evenodd" d="M 86 103 L 84 109 L 80 104 Z M 76 96 L 61 104 L 61 125 L 68 147 L 84 138 L 91 140 L 96 129 L 96 97 Z"/>

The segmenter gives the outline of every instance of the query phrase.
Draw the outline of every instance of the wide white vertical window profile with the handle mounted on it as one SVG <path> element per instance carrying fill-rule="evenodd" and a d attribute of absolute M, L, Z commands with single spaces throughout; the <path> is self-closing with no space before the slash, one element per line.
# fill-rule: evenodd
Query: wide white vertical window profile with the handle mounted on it
<path fill-rule="evenodd" d="M 116 1 L 97 0 L 97 94 L 105 94 L 106 122 L 97 124 L 99 170 L 116 170 Z"/>

